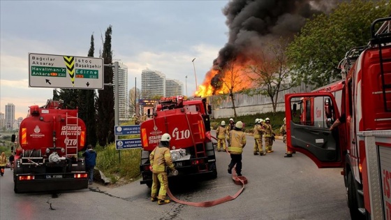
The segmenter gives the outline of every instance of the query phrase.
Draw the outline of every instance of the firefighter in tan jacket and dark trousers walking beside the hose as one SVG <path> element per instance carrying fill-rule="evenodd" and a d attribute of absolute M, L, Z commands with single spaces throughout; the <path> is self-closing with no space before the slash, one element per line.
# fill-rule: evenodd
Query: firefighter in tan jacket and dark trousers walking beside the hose
<path fill-rule="evenodd" d="M 242 131 L 243 123 L 236 122 L 235 128 L 230 131 L 228 138 L 230 145 L 228 151 L 230 152 L 231 162 L 228 165 L 228 173 L 232 173 L 233 167 L 236 165 L 236 173 L 242 176 L 242 152 L 243 147 L 246 146 L 246 135 Z"/>

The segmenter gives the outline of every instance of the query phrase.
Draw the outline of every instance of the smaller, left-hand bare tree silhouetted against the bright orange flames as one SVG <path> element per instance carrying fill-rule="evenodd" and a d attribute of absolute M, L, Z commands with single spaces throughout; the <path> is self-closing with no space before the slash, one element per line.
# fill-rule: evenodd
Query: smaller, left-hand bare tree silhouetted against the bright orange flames
<path fill-rule="evenodd" d="M 244 78 L 244 71 L 235 65 L 235 59 L 231 59 L 227 62 L 224 69 L 220 70 L 224 73 L 224 78 L 217 83 L 217 87 L 226 87 L 226 89 L 221 89 L 221 91 L 228 91 L 228 96 L 233 104 L 233 113 L 236 119 L 236 108 L 235 108 L 235 96 L 234 91 L 241 91 L 242 86 L 245 84 L 246 79 Z"/>

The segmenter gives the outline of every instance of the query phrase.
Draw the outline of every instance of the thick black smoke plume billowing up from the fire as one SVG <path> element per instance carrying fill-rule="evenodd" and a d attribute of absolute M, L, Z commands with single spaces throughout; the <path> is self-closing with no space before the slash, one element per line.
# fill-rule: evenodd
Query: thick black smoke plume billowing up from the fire
<path fill-rule="evenodd" d="M 293 38 L 307 18 L 328 13 L 344 0 L 233 0 L 225 8 L 229 27 L 228 43 L 214 60 L 214 69 L 222 70 L 228 61 L 259 53 L 266 42 Z M 209 72 L 210 73 L 210 72 Z M 208 73 L 207 73 L 208 74 Z M 212 78 L 211 85 L 221 87 L 223 71 Z"/>

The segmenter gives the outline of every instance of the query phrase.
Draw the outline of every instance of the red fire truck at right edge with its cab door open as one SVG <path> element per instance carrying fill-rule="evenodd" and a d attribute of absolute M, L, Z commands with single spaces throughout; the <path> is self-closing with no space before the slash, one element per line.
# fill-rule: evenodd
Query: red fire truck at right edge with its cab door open
<path fill-rule="evenodd" d="M 390 22 L 376 20 L 369 45 L 346 54 L 334 89 L 285 96 L 288 147 L 319 168 L 343 168 L 351 219 L 391 219 Z"/>

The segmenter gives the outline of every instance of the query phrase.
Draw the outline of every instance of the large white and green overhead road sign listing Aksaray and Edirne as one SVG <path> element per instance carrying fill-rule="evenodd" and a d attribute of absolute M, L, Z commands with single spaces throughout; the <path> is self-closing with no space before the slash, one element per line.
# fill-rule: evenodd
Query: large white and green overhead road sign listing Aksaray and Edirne
<path fill-rule="evenodd" d="M 103 58 L 29 53 L 29 87 L 103 89 Z"/>

